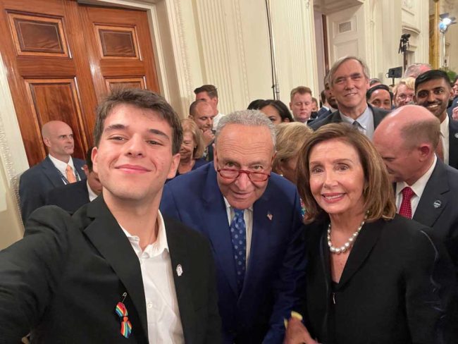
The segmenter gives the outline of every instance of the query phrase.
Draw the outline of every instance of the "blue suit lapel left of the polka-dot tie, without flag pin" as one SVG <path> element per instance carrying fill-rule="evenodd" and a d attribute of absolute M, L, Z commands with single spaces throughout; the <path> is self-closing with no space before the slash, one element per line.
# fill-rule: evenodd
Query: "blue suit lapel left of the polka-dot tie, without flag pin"
<path fill-rule="evenodd" d="M 220 270 L 224 271 L 230 287 L 237 295 L 237 278 L 228 214 L 213 166 L 209 167 L 209 173 L 207 173 L 203 198 L 205 209 L 202 211 L 201 223 L 204 223 L 206 234 L 210 239 L 213 252 L 215 252 L 215 261 L 219 264 Z"/>

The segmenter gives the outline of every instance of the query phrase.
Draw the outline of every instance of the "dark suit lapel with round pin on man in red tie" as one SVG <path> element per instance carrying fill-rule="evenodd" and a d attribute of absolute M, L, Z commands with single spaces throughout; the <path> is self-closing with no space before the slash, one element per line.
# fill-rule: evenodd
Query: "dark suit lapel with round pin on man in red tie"
<path fill-rule="evenodd" d="M 447 207 L 448 199 L 444 194 L 450 190 L 447 182 L 445 164 L 438 159 L 431 177 L 421 195 L 413 219 L 433 228 L 435 221 Z"/>

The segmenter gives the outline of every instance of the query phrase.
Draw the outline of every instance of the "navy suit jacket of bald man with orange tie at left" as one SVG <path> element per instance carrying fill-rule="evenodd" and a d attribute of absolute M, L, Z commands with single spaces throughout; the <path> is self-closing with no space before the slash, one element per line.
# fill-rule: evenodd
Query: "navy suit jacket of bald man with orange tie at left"
<path fill-rule="evenodd" d="M 81 159 L 73 159 L 75 170 L 80 179 L 86 179 L 82 166 L 86 163 Z M 25 171 L 19 180 L 20 212 L 23 221 L 28 219 L 32 211 L 46 204 L 46 194 L 49 190 L 65 185 L 59 175 L 56 166 L 49 156 L 42 162 Z"/>

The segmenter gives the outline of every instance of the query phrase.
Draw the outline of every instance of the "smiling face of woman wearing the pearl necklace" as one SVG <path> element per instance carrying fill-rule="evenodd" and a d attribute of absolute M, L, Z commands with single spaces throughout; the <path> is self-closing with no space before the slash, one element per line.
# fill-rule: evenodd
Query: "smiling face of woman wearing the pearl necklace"
<path fill-rule="evenodd" d="M 352 145 L 339 139 L 316 144 L 309 154 L 309 173 L 311 193 L 331 217 L 364 212 L 364 171 Z"/>

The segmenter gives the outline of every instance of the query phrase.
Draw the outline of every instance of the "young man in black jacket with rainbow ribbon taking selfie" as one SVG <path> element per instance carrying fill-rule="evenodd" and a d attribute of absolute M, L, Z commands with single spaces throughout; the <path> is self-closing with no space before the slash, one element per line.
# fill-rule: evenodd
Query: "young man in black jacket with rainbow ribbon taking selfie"
<path fill-rule="evenodd" d="M 92 150 L 103 196 L 73 216 L 39 209 L 25 238 L 0 252 L 1 340 L 30 331 L 34 343 L 221 341 L 209 244 L 159 211 L 181 140 L 159 95 L 107 97 Z"/>

